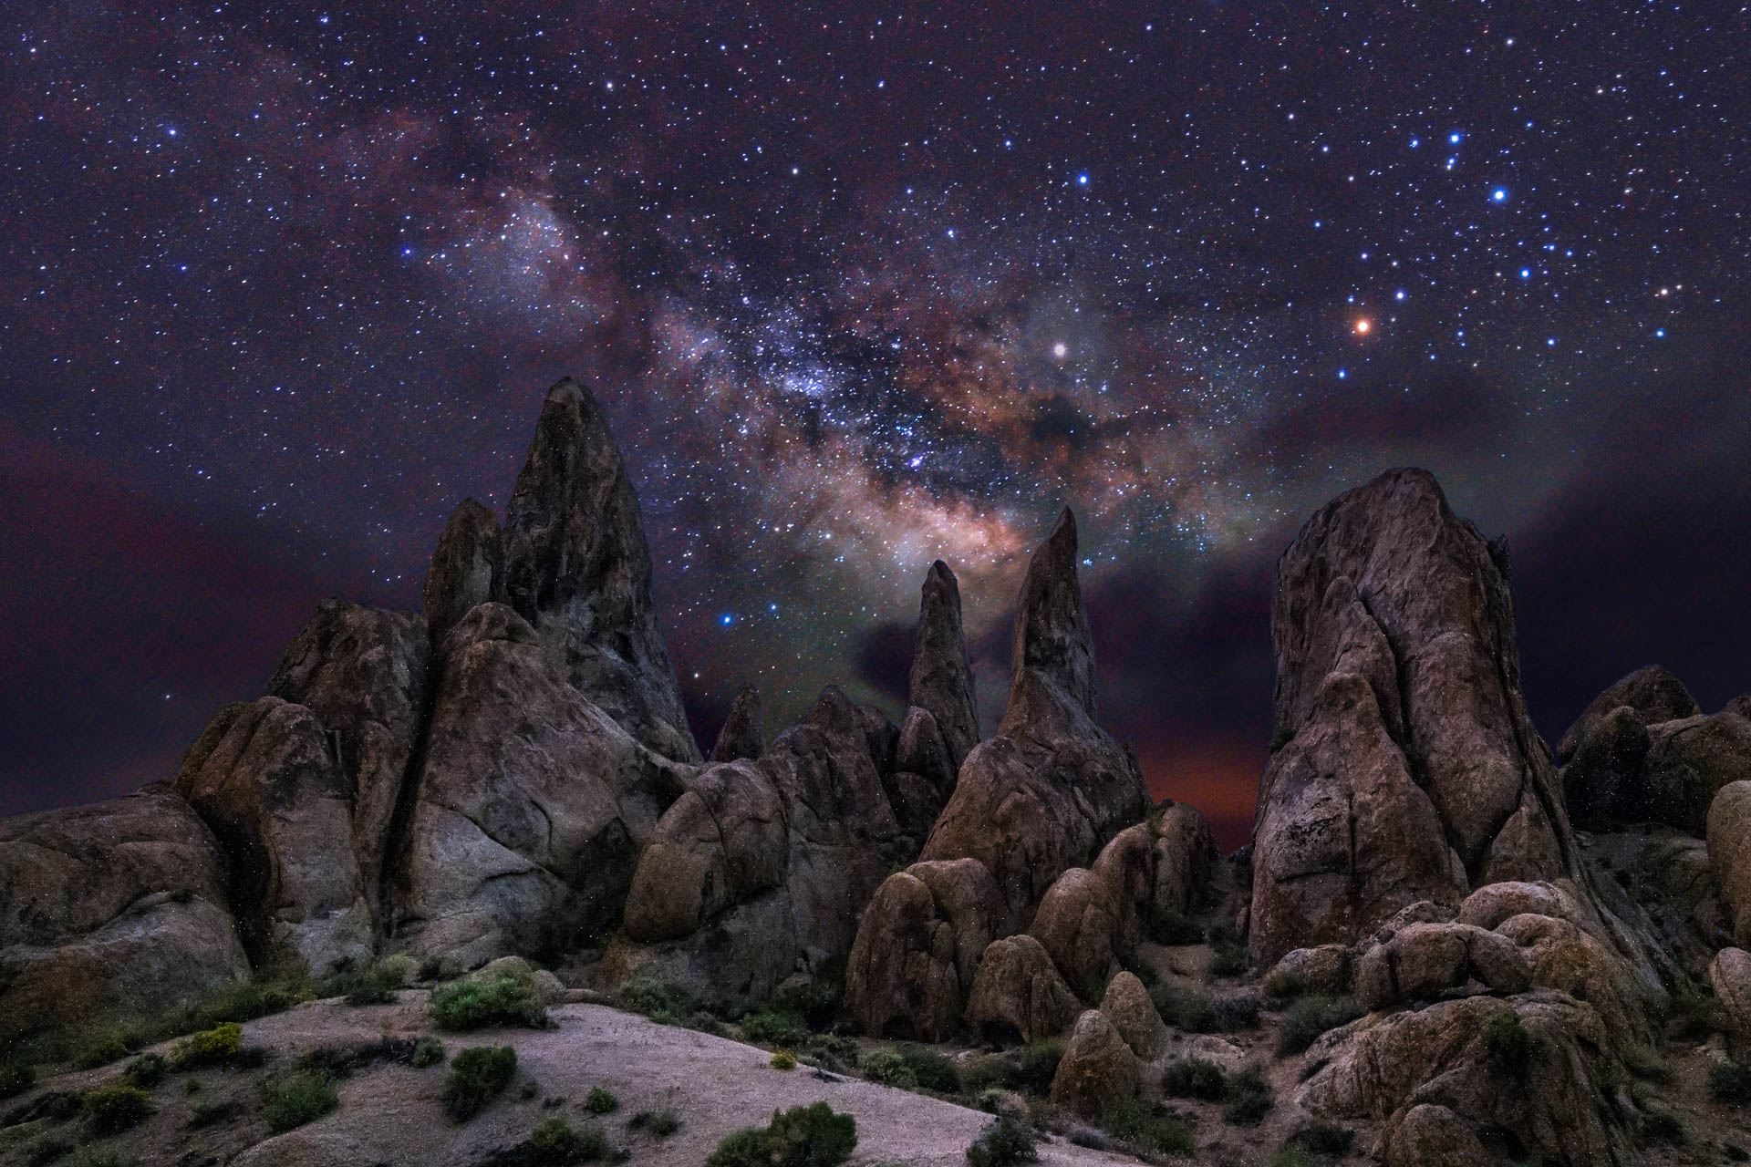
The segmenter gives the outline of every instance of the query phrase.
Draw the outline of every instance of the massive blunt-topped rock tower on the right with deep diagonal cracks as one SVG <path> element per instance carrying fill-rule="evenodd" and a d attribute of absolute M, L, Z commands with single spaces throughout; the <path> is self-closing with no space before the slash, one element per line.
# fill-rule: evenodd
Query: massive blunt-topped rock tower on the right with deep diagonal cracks
<path fill-rule="evenodd" d="M 1506 563 L 1424 471 L 1340 495 L 1283 553 L 1255 961 L 1352 941 L 1417 899 L 1576 873 L 1520 695 Z"/>

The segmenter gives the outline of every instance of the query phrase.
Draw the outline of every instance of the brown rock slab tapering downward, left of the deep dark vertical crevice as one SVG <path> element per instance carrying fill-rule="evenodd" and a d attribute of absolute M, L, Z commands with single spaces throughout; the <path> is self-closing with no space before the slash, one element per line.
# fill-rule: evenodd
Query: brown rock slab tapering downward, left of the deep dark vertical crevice
<path fill-rule="evenodd" d="M 352 791 L 359 884 L 378 927 L 387 926 L 383 871 L 422 731 L 429 665 L 427 623 L 418 616 L 324 600 L 268 681 L 268 696 L 306 707 L 329 733 Z"/>

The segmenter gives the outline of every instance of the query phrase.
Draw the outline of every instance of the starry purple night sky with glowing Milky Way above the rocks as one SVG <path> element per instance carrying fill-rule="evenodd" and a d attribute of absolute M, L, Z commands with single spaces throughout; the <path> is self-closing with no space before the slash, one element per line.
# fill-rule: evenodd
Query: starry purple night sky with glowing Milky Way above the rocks
<path fill-rule="evenodd" d="M 476 12 L 475 9 L 489 9 Z M 995 12 L 995 16 L 984 16 Z M 1245 838 L 1271 567 L 1420 464 L 1555 740 L 1751 689 L 1737 3 L 7 5 L 0 814 L 173 773 L 327 593 L 417 607 L 546 387 L 604 401 L 709 745 L 982 712 L 1084 539 L 1103 721 Z"/>

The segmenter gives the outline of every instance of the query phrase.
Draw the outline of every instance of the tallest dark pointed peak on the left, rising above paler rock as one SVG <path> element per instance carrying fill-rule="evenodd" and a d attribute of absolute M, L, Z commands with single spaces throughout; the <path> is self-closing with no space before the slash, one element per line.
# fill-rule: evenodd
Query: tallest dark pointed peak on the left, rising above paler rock
<path fill-rule="evenodd" d="M 655 752 L 699 761 L 657 626 L 637 495 L 608 416 L 571 378 L 548 390 L 517 476 L 504 590 L 573 688 Z"/>

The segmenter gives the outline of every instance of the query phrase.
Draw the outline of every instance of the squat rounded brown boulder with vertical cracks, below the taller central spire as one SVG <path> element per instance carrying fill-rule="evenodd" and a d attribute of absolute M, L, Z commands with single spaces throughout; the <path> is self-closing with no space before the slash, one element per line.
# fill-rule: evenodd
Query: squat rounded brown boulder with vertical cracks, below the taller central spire
<path fill-rule="evenodd" d="M 846 966 L 861 1032 L 944 1041 L 995 938 L 996 882 L 977 859 L 914 863 L 876 891 Z"/>

